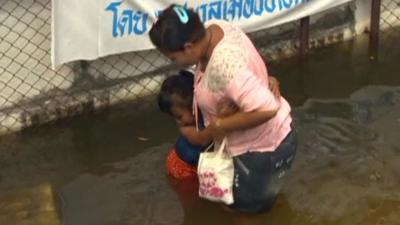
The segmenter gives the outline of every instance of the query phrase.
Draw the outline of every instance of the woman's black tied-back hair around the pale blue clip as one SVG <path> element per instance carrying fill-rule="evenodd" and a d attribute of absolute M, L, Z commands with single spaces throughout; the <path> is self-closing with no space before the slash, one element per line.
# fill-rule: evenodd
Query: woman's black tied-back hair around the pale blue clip
<path fill-rule="evenodd" d="M 182 22 L 174 7 L 187 14 L 187 22 Z M 150 29 L 150 40 L 160 50 L 181 51 L 187 42 L 196 42 L 205 36 L 206 30 L 199 15 L 193 9 L 172 4 L 164 9 Z"/>

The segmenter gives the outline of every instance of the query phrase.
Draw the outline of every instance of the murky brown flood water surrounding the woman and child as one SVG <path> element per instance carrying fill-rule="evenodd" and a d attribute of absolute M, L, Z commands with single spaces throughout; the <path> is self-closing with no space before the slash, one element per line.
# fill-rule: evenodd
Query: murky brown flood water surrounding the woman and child
<path fill-rule="evenodd" d="M 174 122 L 124 107 L 1 137 L 0 224 L 400 224 L 400 51 L 371 61 L 367 44 L 269 65 L 299 148 L 268 213 L 225 212 L 168 179 Z"/>

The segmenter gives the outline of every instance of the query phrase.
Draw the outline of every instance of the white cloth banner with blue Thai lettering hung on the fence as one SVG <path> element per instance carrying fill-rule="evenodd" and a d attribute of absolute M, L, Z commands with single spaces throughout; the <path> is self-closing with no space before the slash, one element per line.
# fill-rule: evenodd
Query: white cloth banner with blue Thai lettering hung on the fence
<path fill-rule="evenodd" d="M 246 32 L 297 20 L 351 0 L 175 0 L 203 21 L 224 19 Z M 52 0 L 53 67 L 73 60 L 154 48 L 151 24 L 170 0 Z"/>

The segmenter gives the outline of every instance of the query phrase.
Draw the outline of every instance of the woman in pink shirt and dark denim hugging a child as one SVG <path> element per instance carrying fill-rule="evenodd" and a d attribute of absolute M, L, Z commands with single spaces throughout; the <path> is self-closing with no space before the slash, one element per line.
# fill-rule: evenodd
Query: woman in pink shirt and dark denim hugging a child
<path fill-rule="evenodd" d="M 196 65 L 193 112 L 206 128 L 181 127 L 193 144 L 227 136 L 234 158 L 234 204 L 243 212 L 269 209 L 293 162 L 297 138 L 290 106 L 268 87 L 268 72 L 253 43 L 225 21 L 203 24 L 191 9 L 171 5 L 150 30 L 153 44 L 178 64 Z M 240 112 L 218 118 L 219 105 L 233 101 Z"/>

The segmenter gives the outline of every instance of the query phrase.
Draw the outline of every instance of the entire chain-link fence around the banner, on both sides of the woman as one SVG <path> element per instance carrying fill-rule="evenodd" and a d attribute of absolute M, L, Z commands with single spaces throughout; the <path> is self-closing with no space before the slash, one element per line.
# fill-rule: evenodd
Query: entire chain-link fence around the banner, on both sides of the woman
<path fill-rule="evenodd" d="M 354 10 L 350 2 L 311 16 L 310 47 L 342 40 L 345 28 L 354 25 Z M 143 51 L 52 70 L 50 16 L 51 0 L 0 2 L 0 134 L 120 102 L 153 102 L 173 69 L 165 57 Z M 299 52 L 299 24 L 294 21 L 250 37 L 269 61 L 290 57 Z"/>

